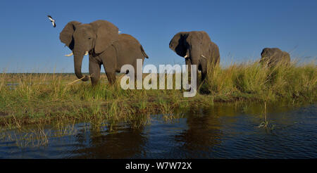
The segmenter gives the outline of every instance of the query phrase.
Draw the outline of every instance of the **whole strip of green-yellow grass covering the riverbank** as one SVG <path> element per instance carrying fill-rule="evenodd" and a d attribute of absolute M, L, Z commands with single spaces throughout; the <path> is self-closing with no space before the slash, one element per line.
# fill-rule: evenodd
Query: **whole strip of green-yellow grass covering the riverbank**
<path fill-rule="evenodd" d="M 139 127 L 148 122 L 149 115 L 177 117 L 174 113 L 180 109 L 210 107 L 220 101 L 316 101 L 314 62 L 275 68 L 263 68 L 259 63 L 233 64 L 228 68 L 209 68 L 209 74 L 197 96 L 184 98 L 183 90 L 123 90 L 119 79 L 118 84 L 111 86 L 105 75 L 92 88 L 90 82 L 67 85 L 77 79 L 75 75 L 2 73 L 0 125 L 13 129 L 23 124 L 58 127 L 68 122 L 106 122 L 111 127 L 116 122 L 128 122 Z"/>

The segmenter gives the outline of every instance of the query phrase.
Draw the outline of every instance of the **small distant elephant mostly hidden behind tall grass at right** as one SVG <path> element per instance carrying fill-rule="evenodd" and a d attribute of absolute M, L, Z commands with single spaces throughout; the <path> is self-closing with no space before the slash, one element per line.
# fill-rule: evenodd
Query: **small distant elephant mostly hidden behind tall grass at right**
<path fill-rule="evenodd" d="M 264 48 L 261 53 L 260 63 L 267 67 L 273 67 L 278 63 L 282 65 L 290 64 L 290 54 L 286 51 L 281 51 L 278 48 Z"/>

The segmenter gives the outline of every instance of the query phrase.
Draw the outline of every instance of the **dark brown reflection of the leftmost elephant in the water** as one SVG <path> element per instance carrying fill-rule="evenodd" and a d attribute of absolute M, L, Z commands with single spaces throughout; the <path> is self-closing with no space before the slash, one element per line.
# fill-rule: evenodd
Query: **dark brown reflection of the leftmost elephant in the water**
<path fill-rule="evenodd" d="M 132 158 L 134 155 L 144 153 L 144 143 L 147 139 L 142 135 L 143 129 L 131 129 L 127 126 L 116 127 L 113 133 L 106 129 L 90 130 L 88 143 L 85 143 L 87 132 L 84 129 L 76 135 L 77 142 L 89 146 L 76 148 L 75 157 L 70 158 Z"/>

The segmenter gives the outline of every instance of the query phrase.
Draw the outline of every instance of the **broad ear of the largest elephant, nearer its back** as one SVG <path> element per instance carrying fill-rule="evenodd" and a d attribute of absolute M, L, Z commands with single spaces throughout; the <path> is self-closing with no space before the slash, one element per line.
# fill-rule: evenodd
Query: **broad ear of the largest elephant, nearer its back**
<path fill-rule="evenodd" d="M 97 20 L 90 23 L 94 32 L 97 34 L 97 39 L 94 45 L 95 53 L 101 53 L 106 50 L 108 46 L 111 46 L 114 41 L 118 41 L 118 27 L 109 23 L 106 20 Z"/>

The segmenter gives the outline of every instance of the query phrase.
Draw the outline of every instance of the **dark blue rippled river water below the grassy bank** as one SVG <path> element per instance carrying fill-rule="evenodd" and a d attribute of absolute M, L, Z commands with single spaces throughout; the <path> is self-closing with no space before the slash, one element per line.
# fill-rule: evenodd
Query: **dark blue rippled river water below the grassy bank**
<path fill-rule="evenodd" d="M 217 103 L 172 121 L 153 115 L 137 129 L 118 124 L 113 132 L 79 123 L 58 136 L 45 127 L 46 144 L 32 128 L 13 130 L 0 137 L 0 158 L 317 158 L 317 105 L 267 107 Z M 259 127 L 264 115 L 268 125 Z"/>

